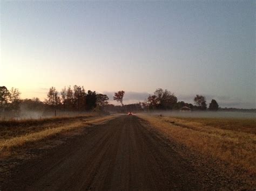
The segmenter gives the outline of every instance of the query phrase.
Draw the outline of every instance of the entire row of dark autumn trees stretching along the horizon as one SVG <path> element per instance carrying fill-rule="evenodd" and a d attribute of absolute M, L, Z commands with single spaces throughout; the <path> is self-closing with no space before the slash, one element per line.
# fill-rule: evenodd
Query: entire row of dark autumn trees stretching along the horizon
<path fill-rule="evenodd" d="M 121 105 L 109 104 L 109 97 L 105 94 L 97 94 L 96 91 L 85 91 L 83 86 L 64 87 L 59 91 L 50 87 L 44 101 L 39 98 L 20 98 L 21 93 L 17 88 L 8 90 L 5 86 L 0 87 L 0 114 L 4 112 L 17 116 L 21 108 L 26 110 L 59 110 L 59 111 L 153 111 L 153 110 L 179 110 L 183 107 L 191 110 L 217 111 L 219 105 L 212 100 L 207 108 L 206 99 L 203 95 L 194 97 L 194 104 L 178 101 L 177 97 L 169 90 L 156 89 L 144 102 L 124 104 L 125 91 L 114 93 L 113 100 Z"/>

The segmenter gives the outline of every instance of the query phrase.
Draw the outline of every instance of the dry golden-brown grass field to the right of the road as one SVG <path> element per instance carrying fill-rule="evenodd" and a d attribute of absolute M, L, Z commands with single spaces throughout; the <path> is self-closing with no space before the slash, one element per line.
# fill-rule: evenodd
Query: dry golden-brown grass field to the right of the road
<path fill-rule="evenodd" d="M 255 119 L 140 117 L 176 142 L 255 177 Z"/>

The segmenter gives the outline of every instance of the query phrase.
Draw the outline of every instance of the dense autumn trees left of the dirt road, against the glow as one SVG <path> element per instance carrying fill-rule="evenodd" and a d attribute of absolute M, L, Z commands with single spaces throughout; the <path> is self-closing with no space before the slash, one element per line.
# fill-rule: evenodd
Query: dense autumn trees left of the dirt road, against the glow
<path fill-rule="evenodd" d="M 0 117 L 18 117 L 21 109 L 25 111 L 105 111 L 109 97 L 96 94 L 96 91 L 85 91 L 82 86 L 64 87 L 60 92 L 50 87 L 44 101 L 34 97 L 20 98 L 21 92 L 17 88 L 8 90 L 0 87 Z"/>

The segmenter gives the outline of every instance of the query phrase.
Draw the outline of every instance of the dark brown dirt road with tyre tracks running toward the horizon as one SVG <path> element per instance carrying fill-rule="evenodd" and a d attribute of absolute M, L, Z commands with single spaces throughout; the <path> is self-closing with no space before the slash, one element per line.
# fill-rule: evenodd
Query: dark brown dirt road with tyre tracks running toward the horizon
<path fill-rule="evenodd" d="M 120 116 L 19 166 L 2 190 L 202 188 L 169 144 L 137 116 Z"/>

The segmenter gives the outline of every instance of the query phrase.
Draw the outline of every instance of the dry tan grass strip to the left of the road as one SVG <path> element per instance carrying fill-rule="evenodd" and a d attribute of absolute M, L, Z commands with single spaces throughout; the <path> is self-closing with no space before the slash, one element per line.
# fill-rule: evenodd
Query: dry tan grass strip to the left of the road
<path fill-rule="evenodd" d="M 105 117 L 71 117 L 71 118 L 54 118 L 54 119 L 38 119 L 39 122 L 43 120 L 42 125 L 39 122 L 33 120 L 33 124 L 37 126 L 29 126 L 24 122 L 17 123 L 19 126 L 10 126 L 5 131 L 6 135 L 0 138 L 0 151 L 5 153 L 6 151 L 21 147 L 26 143 L 37 142 L 39 140 L 49 138 L 57 135 L 58 133 L 71 131 L 78 128 L 85 128 L 90 125 L 97 125 L 105 123 L 116 116 Z M 44 124 L 45 123 L 45 124 Z M 29 127 L 29 128 L 26 128 Z M 2 128 L 1 128 L 2 129 Z M 3 129 L 2 129 L 3 131 Z M 3 134 L 3 133 L 2 133 Z"/>

